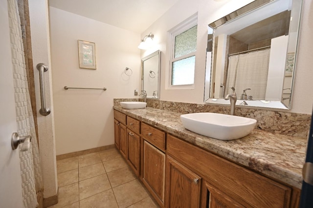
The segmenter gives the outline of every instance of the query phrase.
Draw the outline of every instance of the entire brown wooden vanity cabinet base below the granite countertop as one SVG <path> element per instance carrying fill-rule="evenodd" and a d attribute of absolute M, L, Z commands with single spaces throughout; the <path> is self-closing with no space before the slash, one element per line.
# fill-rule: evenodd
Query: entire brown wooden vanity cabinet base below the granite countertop
<path fill-rule="evenodd" d="M 166 208 L 296 208 L 300 190 L 114 110 L 114 143 Z"/>

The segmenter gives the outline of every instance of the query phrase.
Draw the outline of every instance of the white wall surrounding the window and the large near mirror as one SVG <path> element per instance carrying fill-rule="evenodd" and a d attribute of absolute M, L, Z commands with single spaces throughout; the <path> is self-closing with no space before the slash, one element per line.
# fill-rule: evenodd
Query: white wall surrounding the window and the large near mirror
<path fill-rule="evenodd" d="M 207 42 L 207 25 L 230 12 L 246 5 L 252 0 L 179 0 L 161 18 L 155 21 L 141 38 L 152 32 L 155 35 L 155 47 L 142 51 L 141 57 L 161 50 L 161 89 L 160 99 L 165 101 L 188 102 L 203 104 L 203 89 L 205 76 L 205 57 Z M 195 88 L 191 90 L 166 89 L 165 76 L 169 68 L 169 46 L 167 45 L 168 32 L 181 21 L 198 12 L 198 40 L 195 69 Z M 293 87 L 293 101 L 291 112 L 312 113 L 313 104 L 313 2 L 304 1 L 302 6 L 302 17 L 300 26 L 300 40 L 298 46 L 298 58 L 296 67 L 296 78 Z M 310 90 L 308 90 L 310 89 Z"/>

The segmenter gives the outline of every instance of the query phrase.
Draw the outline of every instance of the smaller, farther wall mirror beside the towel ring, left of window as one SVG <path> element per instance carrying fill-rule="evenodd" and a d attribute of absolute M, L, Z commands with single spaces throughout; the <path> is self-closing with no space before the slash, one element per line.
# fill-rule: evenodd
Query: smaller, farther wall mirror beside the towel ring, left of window
<path fill-rule="evenodd" d="M 159 50 L 141 59 L 142 90 L 146 91 L 147 98 L 160 98 L 160 60 Z"/>

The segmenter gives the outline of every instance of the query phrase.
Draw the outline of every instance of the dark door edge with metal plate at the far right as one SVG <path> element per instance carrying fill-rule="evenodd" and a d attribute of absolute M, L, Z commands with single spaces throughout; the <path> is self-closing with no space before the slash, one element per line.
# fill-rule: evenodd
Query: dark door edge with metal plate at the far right
<path fill-rule="evenodd" d="M 300 208 L 313 208 L 313 118 L 308 141 L 307 157 L 304 167 L 304 181 L 300 197 Z M 307 171 L 305 171 L 307 170 Z"/>

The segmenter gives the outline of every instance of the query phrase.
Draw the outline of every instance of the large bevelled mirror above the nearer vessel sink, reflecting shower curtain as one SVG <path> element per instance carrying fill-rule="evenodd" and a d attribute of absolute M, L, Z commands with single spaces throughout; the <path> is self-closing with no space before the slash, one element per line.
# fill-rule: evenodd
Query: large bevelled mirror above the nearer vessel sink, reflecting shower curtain
<path fill-rule="evenodd" d="M 208 26 L 204 102 L 291 108 L 302 0 L 255 0 Z"/>

